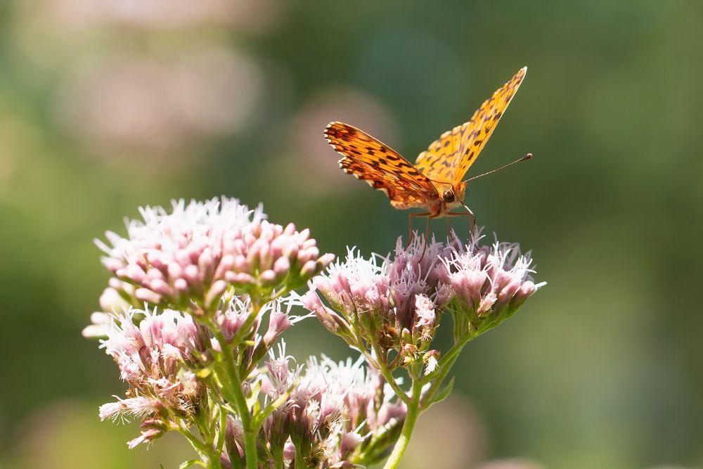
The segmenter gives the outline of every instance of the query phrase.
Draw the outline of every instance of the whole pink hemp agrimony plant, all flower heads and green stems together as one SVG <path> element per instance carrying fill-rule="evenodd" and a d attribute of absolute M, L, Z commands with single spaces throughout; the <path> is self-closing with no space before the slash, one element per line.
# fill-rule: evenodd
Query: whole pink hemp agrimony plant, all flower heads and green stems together
<path fill-rule="evenodd" d="M 141 217 L 98 242 L 111 278 L 83 333 L 127 384 L 100 418 L 138 420 L 129 448 L 181 433 L 197 454 L 182 467 L 362 468 L 388 457 L 395 468 L 420 413 L 449 394 L 463 346 L 541 286 L 517 245 L 479 245 L 479 232 L 465 244 L 399 239 L 393 256 L 349 250 L 331 264 L 309 230 L 235 199 Z M 311 314 L 293 314 L 301 305 Z M 361 357 L 298 365 L 286 355 L 281 335 L 313 315 Z M 454 342 L 440 351 L 446 316 Z"/>

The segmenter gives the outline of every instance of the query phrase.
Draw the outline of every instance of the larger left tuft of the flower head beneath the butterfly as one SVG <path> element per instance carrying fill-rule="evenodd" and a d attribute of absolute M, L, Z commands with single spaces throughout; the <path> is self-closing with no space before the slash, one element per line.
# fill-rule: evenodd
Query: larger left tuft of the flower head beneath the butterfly
<path fill-rule="evenodd" d="M 415 354 L 432 341 L 439 314 L 453 297 L 440 262 L 453 249 L 415 237 L 407 248 L 399 238 L 393 258 L 365 259 L 349 250 L 344 262 L 314 278 L 302 304 L 354 347 L 369 342 Z"/>

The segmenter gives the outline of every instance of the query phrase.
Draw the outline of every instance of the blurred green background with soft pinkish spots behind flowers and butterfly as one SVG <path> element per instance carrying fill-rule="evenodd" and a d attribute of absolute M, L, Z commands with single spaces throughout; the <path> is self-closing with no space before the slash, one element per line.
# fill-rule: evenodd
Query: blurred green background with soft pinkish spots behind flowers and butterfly
<path fill-rule="evenodd" d="M 413 160 L 523 65 L 471 172 L 535 158 L 467 202 L 549 284 L 465 349 L 404 468 L 703 465 L 702 21 L 697 0 L 1 2 L 0 466 L 191 454 L 98 421 L 124 385 L 80 335 L 108 279 L 93 238 L 226 194 L 388 252 L 407 212 L 338 169 L 325 124 Z M 315 321 L 288 347 L 349 354 Z"/>

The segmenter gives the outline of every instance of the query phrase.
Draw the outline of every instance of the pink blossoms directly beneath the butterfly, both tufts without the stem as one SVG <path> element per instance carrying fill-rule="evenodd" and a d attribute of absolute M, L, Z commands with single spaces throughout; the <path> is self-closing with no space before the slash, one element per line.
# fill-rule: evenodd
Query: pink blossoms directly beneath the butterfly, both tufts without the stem
<path fill-rule="evenodd" d="M 356 347 L 370 343 L 423 352 L 444 309 L 462 315 L 465 333 L 480 333 L 514 313 L 542 285 L 532 281 L 531 259 L 518 245 L 479 246 L 481 238 L 477 231 L 467 245 L 456 238 L 425 245 L 416 236 L 407 248 L 399 239 L 395 256 L 380 263 L 379 257 L 364 259 L 350 251 L 344 262 L 314 278 L 302 302 Z M 427 366 L 436 364 L 436 353 L 426 358 Z"/>

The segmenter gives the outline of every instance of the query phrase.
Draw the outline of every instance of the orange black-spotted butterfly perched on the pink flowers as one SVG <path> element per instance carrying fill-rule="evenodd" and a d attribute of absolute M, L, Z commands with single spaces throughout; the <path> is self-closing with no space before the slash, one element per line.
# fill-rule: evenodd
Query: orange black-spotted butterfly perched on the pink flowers
<path fill-rule="evenodd" d="M 340 167 L 344 172 L 384 191 L 393 207 L 426 210 L 410 214 L 411 237 L 413 217 L 427 217 L 428 230 L 430 219 L 445 215 L 469 216 L 473 220 L 473 212 L 463 205 L 467 183 L 463 181 L 464 175 L 486 146 L 526 73 L 527 67 L 522 68 L 484 101 L 471 120 L 441 134 L 420 153 L 415 165 L 385 143 L 349 124 L 330 122 L 325 128 L 325 138 L 343 155 Z M 529 157 L 528 153 L 518 161 Z M 462 205 L 468 213 L 451 212 Z"/>

